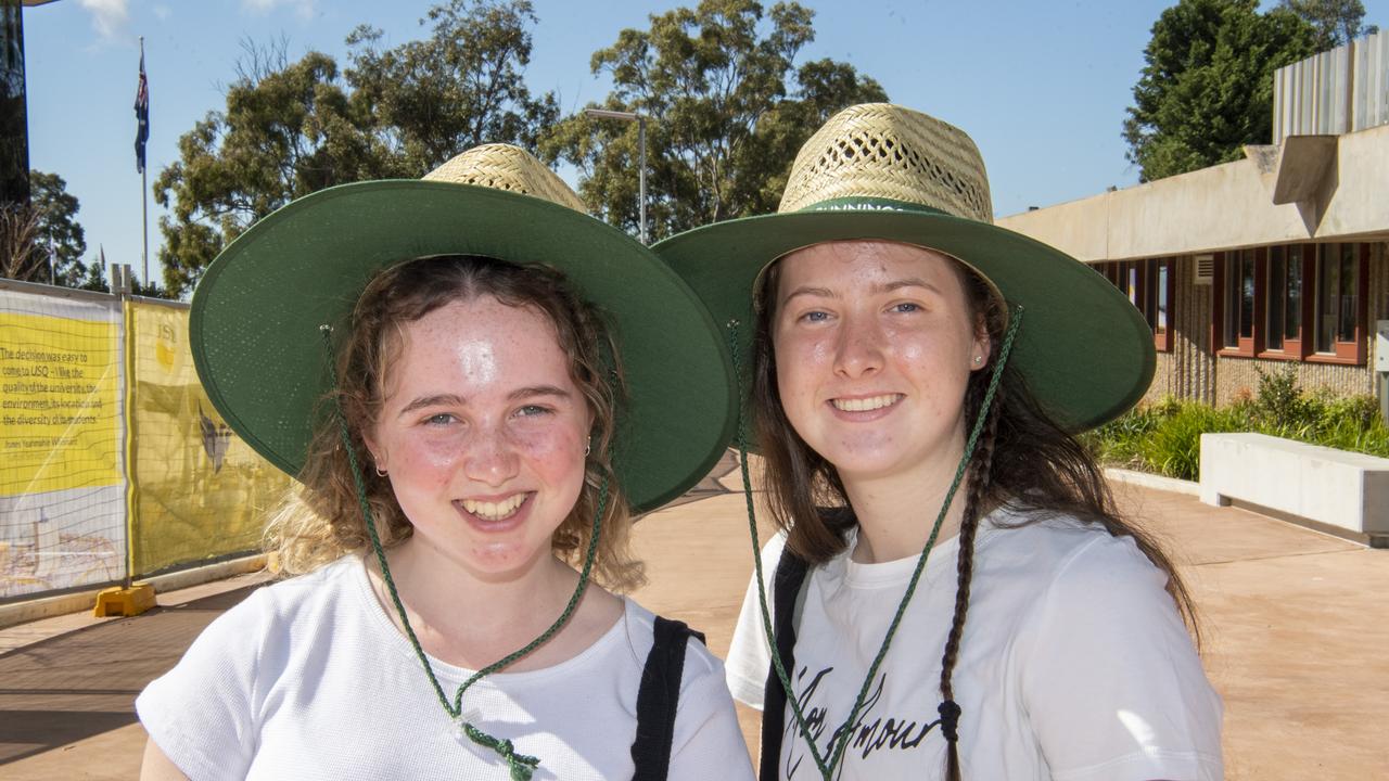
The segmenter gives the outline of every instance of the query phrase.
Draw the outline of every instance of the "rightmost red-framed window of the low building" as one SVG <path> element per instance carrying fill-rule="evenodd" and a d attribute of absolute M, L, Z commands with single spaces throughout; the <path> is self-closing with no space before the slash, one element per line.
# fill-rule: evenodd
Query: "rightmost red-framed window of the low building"
<path fill-rule="evenodd" d="M 1364 363 L 1361 295 L 1367 272 L 1365 245 L 1321 245 L 1317 253 L 1314 360 Z"/>

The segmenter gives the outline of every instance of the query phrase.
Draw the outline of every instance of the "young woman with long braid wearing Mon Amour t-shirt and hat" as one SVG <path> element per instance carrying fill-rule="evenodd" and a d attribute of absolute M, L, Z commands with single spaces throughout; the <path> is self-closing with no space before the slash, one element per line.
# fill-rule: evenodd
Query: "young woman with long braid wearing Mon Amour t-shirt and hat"
<path fill-rule="evenodd" d="M 850 107 L 778 214 L 656 249 L 728 327 L 781 529 L 726 663 L 764 781 L 1221 777 L 1190 598 L 1072 438 L 1151 332 L 992 225 L 968 136 Z"/>

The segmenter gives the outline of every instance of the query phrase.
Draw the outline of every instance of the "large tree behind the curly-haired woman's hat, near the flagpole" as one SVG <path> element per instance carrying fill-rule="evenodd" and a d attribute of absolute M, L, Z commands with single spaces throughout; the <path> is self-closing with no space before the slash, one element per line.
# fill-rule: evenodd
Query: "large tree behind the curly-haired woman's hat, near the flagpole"
<path fill-rule="evenodd" d="M 179 139 L 154 199 L 164 282 L 186 295 L 226 243 L 290 200 L 332 185 L 418 178 L 483 142 L 535 146 L 558 117 L 521 82 L 531 57 L 528 0 L 450 0 L 428 11 L 431 38 L 379 50 L 381 32 L 349 36 L 350 67 L 286 44 L 247 44 L 226 106 Z"/>

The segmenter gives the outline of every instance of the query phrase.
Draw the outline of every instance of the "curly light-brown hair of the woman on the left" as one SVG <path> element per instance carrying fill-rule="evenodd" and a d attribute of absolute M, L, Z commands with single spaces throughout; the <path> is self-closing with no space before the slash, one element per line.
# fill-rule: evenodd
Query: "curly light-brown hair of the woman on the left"
<path fill-rule="evenodd" d="M 324 422 L 315 429 L 299 475 L 303 486 L 296 486 L 297 491 L 286 498 L 267 528 L 267 548 L 279 554 L 283 571 L 311 571 L 368 545 L 357 484 L 332 413 L 333 403 L 347 422 L 382 545 L 392 548 L 410 538 L 410 520 L 396 502 L 390 481 L 376 474 L 363 432 L 375 425 L 381 413 L 386 378 L 400 354 L 404 327 L 449 303 L 479 296 L 535 310 L 554 325 L 560 349 L 569 356 L 569 378 L 593 414 L 583 489 L 556 529 L 553 550 L 571 564 L 581 563 L 606 482 L 594 577 L 617 591 L 642 582 L 642 566 L 628 548 L 631 513 L 618 491 L 610 453 L 624 385 L 608 328 L 600 313 L 581 300 L 558 271 L 476 256 L 436 256 L 397 264 L 378 274 L 357 300 L 336 350 L 338 388 L 324 400 Z"/>

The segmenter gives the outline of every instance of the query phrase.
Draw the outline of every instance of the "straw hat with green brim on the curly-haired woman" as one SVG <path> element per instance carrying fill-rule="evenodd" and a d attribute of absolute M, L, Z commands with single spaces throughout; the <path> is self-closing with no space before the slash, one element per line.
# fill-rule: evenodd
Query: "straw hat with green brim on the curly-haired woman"
<path fill-rule="evenodd" d="M 606 314 L 628 389 L 613 464 L 635 511 L 708 474 L 732 435 L 738 392 L 726 345 L 689 286 L 647 247 L 576 211 L 572 190 L 517 147 L 469 150 L 431 176 L 301 197 L 207 268 L 189 342 L 228 425 L 297 477 L 328 414 L 332 356 L 321 327 L 350 328 L 363 289 L 390 265 L 476 254 L 557 268 Z"/>

